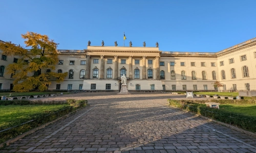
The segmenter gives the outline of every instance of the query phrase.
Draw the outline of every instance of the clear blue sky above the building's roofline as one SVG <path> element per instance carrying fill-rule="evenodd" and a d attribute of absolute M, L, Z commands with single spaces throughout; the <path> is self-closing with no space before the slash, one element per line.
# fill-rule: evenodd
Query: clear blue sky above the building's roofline
<path fill-rule="evenodd" d="M 36 32 L 58 49 L 123 45 L 162 51 L 219 52 L 256 37 L 255 0 L 2 0 L 0 39 L 24 45 L 21 34 Z M 24 45 L 25 46 L 25 45 Z"/>

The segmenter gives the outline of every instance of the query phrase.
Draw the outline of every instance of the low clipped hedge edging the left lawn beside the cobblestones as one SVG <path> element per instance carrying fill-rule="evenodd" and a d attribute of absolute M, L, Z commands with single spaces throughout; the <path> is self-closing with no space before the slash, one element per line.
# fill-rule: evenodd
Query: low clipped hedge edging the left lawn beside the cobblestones
<path fill-rule="evenodd" d="M 14 101 L 14 100 L 13 100 Z M 18 100 L 15 100 L 16 102 Z M 23 101 L 23 100 L 21 100 Z M 22 102 L 22 105 L 30 105 L 27 104 L 29 100 L 24 100 L 24 102 Z M 20 134 L 23 134 L 29 130 L 34 129 L 35 127 L 38 127 L 42 124 L 45 124 L 47 122 L 53 121 L 61 116 L 64 116 L 70 112 L 73 112 L 74 110 L 86 106 L 87 105 L 87 100 L 74 100 L 76 105 L 71 105 L 71 106 L 67 106 L 64 109 L 58 110 L 57 112 L 54 113 L 38 113 L 36 116 L 37 118 L 34 118 L 31 121 L 19 124 L 17 126 L 11 127 L 10 129 L 6 129 L 6 131 L 0 132 L 0 143 L 5 142 L 9 139 L 12 139 Z M 66 104 L 68 103 L 67 101 L 64 101 Z M 62 101 L 62 104 L 64 103 Z M 12 105 L 18 105 L 19 102 L 17 103 L 12 103 Z M 11 103 L 10 103 L 11 104 Z M 42 104 L 42 103 L 41 103 Z M 56 103 L 55 103 L 56 104 Z"/>

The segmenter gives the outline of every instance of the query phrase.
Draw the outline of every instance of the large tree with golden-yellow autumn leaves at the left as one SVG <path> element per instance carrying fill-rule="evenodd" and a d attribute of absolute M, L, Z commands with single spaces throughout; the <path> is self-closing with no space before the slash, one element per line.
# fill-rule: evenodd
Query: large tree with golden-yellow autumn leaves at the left
<path fill-rule="evenodd" d="M 3 55 L 15 56 L 16 63 L 7 66 L 7 74 L 12 75 L 13 91 L 28 92 L 33 89 L 45 91 L 52 80 L 61 82 L 68 75 L 66 73 L 55 73 L 55 64 L 58 63 L 57 43 L 49 39 L 47 35 L 33 32 L 22 34 L 25 39 L 25 49 L 12 42 L 0 42 L 0 50 Z"/>

